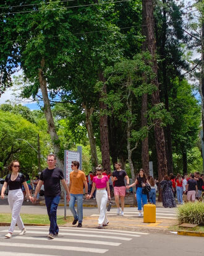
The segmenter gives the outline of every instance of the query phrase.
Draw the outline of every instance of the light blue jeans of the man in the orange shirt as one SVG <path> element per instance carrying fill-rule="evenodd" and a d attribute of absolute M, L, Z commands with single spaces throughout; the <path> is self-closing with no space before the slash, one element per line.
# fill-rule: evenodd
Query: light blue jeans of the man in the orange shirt
<path fill-rule="evenodd" d="M 74 208 L 77 200 L 77 212 Z M 70 194 L 69 209 L 72 212 L 74 219 L 78 219 L 79 223 L 83 220 L 83 194 Z"/>

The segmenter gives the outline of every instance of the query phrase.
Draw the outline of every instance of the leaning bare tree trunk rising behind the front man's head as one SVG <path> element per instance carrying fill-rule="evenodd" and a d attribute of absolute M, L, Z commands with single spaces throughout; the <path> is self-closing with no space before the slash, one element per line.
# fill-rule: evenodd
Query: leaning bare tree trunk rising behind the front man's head
<path fill-rule="evenodd" d="M 56 133 L 53 114 L 51 112 L 51 107 L 49 104 L 47 84 L 46 84 L 45 76 L 43 74 L 44 66 L 45 66 L 45 59 L 43 58 L 41 60 L 41 68 L 39 69 L 39 72 L 38 72 L 40 89 L 43 95 L 43 103 L 44 103 L 43 111 L 45 113 L 46 121 L 48 123 L 49 135 L 51 136 L 51 139 L 53 141 L 54 154 L 56 154 L 56 157 L 57 157 L 57 165 L 60 169 L 64 170 L 64 162 L 61 159 L 59 159 L 59 156 L 58 156 L 58 153 L 60 151 L 59 138 Z"/>

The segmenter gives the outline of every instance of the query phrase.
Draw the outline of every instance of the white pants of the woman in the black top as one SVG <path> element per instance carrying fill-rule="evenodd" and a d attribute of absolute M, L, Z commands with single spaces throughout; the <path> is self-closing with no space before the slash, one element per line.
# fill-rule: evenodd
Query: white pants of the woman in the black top
<path fill-rule="evenodd" d="M 16 223 L 19 229 L 24 228 L 23 221 L 20 218 L 20 208 L 23 203 L 22 190 L 21 189 L 9 190 L 8 201 L 12 210 L 12 219 L 11 219 L 11 226 L 9 227 L 9 232 L 13 233 Z"/>

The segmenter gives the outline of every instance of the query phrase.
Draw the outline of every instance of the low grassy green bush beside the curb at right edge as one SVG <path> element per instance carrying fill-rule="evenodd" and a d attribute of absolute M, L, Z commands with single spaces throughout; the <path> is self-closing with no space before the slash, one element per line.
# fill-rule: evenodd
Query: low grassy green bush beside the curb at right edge
<path fill-rule="evenodd" d="M 178 208 L 180 223 L 204 225 L 204 203 L 185 203 Z"/>

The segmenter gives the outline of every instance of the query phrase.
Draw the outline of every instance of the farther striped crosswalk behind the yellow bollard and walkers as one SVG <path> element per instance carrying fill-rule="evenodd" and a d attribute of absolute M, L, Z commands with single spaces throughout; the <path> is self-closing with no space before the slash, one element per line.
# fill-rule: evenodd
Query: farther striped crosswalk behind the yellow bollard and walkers
<path fill-rule="evenodd" d="M 107 212 L 108 216 L 116 216 L 117 209 L 112 208 L 111 211 Z M 97 217 L 98 214 L 92 214 L 91 217 Z M 124 209 L 125 217 L 137 217 L 138 210 L 137 208 L 125 208 Z M 156 219 L 176 219 L 177 208 L 156 208 Z"/>

